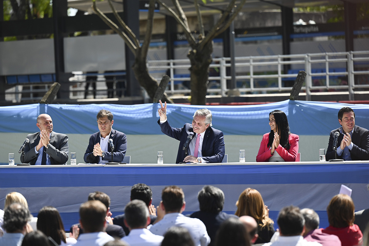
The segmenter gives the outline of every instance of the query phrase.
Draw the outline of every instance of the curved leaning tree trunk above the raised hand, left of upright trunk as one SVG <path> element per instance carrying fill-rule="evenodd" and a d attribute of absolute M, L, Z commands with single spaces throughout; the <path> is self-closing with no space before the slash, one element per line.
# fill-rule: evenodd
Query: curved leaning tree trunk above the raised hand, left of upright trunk
<path fill-rule="evenodd" d="M 133 72 L 140 86 L 144 87 L 150 98 L 154 98 L 156 90 L 158 90 L 158 82 L 149 74 L 146 67 L 146 60 L 141 61 L 138 59 L 139 57 L 140 55 L 136 54 L 135 63 L 132 67 Z M 166 93 L 159 99 L 168 103 L 173 103 L 172 99 L 170 99 Z"/>

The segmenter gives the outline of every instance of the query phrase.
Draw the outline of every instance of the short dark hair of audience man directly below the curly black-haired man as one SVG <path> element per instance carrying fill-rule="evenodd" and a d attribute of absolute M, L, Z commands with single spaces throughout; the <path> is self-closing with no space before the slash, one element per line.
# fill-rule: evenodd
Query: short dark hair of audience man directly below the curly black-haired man
<path fill-rule="evenodd" d="M 141 200 L 132 200 L 128 202 L 124 209 L 125 221 L 131 229 L 146 227 L 149 210 L 145 202 Z"/>

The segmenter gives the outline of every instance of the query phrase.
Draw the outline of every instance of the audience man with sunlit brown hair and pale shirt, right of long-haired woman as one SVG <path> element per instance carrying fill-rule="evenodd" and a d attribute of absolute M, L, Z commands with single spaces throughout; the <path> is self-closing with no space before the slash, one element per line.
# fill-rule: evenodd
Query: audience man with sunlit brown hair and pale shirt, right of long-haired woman
<path fill-rule="evenodd" d="M 114 238 L 104 232 L 106 206 L 100 201 L 87 201 L 79 208 L 79 223 L 83 228 L 75 246 L 103 246 Z"/>

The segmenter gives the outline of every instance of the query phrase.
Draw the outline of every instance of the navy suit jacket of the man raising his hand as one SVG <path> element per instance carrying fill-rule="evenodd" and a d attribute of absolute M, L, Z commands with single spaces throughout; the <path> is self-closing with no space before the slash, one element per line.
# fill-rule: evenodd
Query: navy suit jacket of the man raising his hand
<path fill-rule="evenodd" d="M 192 125 L 186 123 L 182 128 L 173 128 L 170 127 L 168 120 L 163 124 L 160 124 L 160 119 L 158 120 L 158 124 L 160 125 L 163 134 L 180 141 L 176 163 L 183 162 L 183 159 L 186 157 L 186 155 L 182 148 L 184 143 L 187 141 L 187 136 L 194 134 Z M 208 127 L 205 131 L 201 153 L 203 155 L 202 158 L 207 163 L 221 163 L 225 153 L 223 132 L 214 129 L 213 127 Z"/>

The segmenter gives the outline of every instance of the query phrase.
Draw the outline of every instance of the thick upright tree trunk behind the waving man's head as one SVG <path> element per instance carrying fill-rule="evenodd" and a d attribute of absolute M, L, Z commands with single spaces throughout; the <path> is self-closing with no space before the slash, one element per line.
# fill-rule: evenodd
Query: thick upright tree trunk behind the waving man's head
<path fill-rule="evenodd" d="M 209 65 L 213 61 L 211 58 L 213 41 L 208 42 L 202 50 L 197 49 L 198 47 L 199 44 L 197 43 L 187 55 L 191 62 L 191 104 L 205 105 Z"/>

